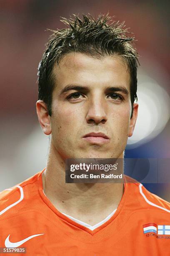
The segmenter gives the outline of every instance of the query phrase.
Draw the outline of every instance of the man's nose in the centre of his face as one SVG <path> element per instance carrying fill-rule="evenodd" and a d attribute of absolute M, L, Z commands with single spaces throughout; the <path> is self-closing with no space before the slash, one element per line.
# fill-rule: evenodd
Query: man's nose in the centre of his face
<path fill-rule="evenodd" d="M 87 123 L 105 123 L 107 121 L 105 100 L 95 97 L 89 102 L 89 108 L 86 115 Z"/>

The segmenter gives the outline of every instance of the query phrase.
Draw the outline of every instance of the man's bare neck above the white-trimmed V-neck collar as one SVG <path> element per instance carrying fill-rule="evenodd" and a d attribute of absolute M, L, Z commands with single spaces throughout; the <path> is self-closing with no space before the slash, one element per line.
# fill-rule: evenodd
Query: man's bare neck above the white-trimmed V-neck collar
<path fill-rule="evenodd" d="M 123 195 L 123 183 L 65 183 L 65 161 L 52 146 L 42 183 L 57 210 L 90 225 L 113 212 Z"/>

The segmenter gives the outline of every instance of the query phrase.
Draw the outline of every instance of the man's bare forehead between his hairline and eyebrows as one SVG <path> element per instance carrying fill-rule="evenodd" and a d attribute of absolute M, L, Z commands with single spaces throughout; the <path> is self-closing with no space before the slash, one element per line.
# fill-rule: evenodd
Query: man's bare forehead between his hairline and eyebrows
<path fill-rule="evenodd" d="M 53 68 L 57 87 L 79 83 L 95 86 L 124 85 L 130 89 L 128 65 L 121 56 L 104 56 L 101 59 L 88 54 L 68 53 L 62 56 L 59 67 Z"/>

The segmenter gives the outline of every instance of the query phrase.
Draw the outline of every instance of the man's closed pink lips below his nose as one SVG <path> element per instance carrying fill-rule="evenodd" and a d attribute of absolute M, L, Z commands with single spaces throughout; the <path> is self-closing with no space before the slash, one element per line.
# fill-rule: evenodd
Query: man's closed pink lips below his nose
<path fill-rule="evenodd" d="M 87 133 L 83 139 L 91 143 L 108 143 L 110 138 L 105 133 Z"/>

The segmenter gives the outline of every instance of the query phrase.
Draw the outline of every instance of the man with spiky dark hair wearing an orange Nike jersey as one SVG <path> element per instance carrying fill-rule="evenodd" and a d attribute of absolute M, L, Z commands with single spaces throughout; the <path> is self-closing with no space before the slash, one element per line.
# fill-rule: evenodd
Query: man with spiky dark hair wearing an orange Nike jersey
<path fill-rule="evenodd" d="M 138 54 L 108 15 L 63 19 L 39 65 L 42 172 L 0 194 L 0 247 L 28 255 L 170 255 L 170 204 L 140 183 L 65 183 L 65 161 L 123 158 L 138 115 Z M 126 180 L 128 178 L 126 177 Z"/>

